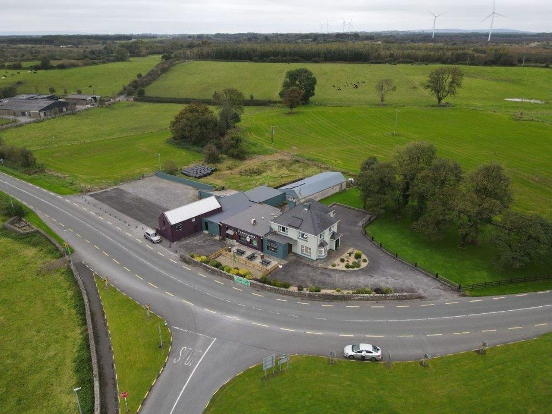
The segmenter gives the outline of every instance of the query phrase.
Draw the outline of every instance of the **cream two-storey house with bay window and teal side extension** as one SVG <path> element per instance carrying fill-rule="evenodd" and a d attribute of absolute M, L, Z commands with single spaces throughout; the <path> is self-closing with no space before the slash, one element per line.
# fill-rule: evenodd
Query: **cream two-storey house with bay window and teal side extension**
<path fill-rule="evenodd" d="M 337 250 L 341 244 L 338 224 L 333 209 L 318 201 L 305 201 L 270 221 L 264 250 L 274 254 L 276 247 L 274 256 L 282 258 L 291 252 L 312 260 L 325 258 L 328 250 Z"/>

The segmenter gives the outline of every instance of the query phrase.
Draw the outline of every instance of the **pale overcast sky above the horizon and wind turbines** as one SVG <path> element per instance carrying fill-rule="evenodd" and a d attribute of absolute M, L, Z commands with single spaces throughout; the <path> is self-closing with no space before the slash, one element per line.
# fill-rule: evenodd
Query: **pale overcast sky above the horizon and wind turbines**
<path fill-rule="evenodd" d="M 8 0 L 0 33 L 236 33 L 486 29 L 492 0 Z M 552 31 L 551 0 L 497 0 L 495 28 Z M 322 30 L 326 30 L 325 28 Z"/>

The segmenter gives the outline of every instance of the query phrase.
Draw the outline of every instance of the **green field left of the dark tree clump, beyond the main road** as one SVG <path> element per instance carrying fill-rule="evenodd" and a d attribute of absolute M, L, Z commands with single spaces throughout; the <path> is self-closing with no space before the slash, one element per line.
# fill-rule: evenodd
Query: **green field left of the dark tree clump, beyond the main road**
<path fill-rule="evenodd" d="M 165 141 L 177 104 L 120 102 L 44 123 L 3 131 L 8 144 L 26 146 L 47 169 L 95 185 L 158 169 L 161 161 L 179 165 L 201 159 Z"/>

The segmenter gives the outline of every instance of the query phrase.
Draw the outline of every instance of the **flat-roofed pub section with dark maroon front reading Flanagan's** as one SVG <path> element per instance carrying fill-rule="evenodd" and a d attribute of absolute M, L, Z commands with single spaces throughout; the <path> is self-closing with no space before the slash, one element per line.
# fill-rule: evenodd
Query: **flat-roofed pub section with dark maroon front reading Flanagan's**
<path fill-rule="evenodd" d="M 263 251 L 263 238 L 270 231 L 270 221 L 282 214 L 268 204 L 253 204 L 241 213 L 220 221 L 222 240 L 241 243 L 259 252 Z"/>

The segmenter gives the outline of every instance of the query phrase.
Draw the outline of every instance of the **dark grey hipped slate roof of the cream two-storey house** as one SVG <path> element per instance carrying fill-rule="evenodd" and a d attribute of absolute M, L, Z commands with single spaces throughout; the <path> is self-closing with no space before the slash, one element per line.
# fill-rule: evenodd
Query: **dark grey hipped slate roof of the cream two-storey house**
<path fill-rule="evenodd" d="M 312 200 L 296 205 L 272 221 L 317 236 L 339 221 L 330 215 L 332 211 L 328 206 Z"/>

